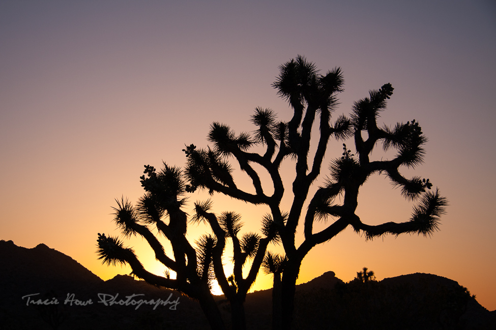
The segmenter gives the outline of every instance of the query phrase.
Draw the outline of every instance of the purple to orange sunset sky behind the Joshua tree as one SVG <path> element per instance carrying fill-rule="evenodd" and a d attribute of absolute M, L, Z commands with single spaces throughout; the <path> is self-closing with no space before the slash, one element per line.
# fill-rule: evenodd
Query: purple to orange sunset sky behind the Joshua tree
<path fill-rule="evenodd" d="M 349 281 L 364 266 L 378 279 L 430 273 L 496 309 L 494 1 L 2 0 L 0 50 L 0 239 L 45 243 L 105 280 L 129 274 L 95 254 L 97 233 L 118 235 L 114 199 L 138 199 L 144 164 L 183 166 L 184 144 L 206 147 L 213 121 L 250 131 L 255 107 L 288 120 L 271 83 L 302 54 L 324 72 L 342 68 L 336 115 L 392 83 L 381 119 L 420 122 L 426 161 L 409 176 L 429 178 L 450 206 L 431 238 L 366 242 L 346 229 L 307 255 L 298 283 L 330 270 Z M 332 142 L 327 162 L 341 148 Z M 214 203 L 242 213 L 246 231 L 267 212 Z M 411 209 L 384 177 L 361 189 L 366 223 L 405 221 Z M 204 231 L 190 225 L 189 237 Z M 163 272 L 141 239 L 127 244 Z M 270 284 L 259 276 L 254 289 Z"/>

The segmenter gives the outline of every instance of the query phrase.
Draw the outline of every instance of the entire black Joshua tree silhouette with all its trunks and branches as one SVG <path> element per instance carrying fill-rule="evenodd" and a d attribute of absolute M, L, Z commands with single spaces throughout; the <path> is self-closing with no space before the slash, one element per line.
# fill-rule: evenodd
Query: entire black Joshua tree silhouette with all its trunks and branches
<path fill-rule="evenodd" d="M 278 319 L 273 320 L 273 328 L 289 329 L 301 263 L 314 246 L 331 240 L 348 226 L 364 234 L 366 239 L 403 233 L 430 236 L 439 229 L 447 201 L 439 190 L 431 191 L 429 179 L 417 176 L 408 179 L 400 173 L 401 168 L 415 168 L 423 162 L 423 144 L 427 139 L 419 123 L 412 120 L 394 127 L 378 126 L 379 114 L 386 109 L 387 100 L 393 94 L 389 83 L 356 102 L 349 117 L 341 115 L 331 122 L 331 115 L 338 105 L 337 95 L 343 91 L 343 86 L 340 68 L 320 74 L 312 62 L 297 56 L 281 65 L 273 84 L 293 109 L 288 121 L 278 120 L 271 109 L 256 108 L 251 117 L 256 127 L 253 133 L 236 134 L 229 126 L 214 122 L 208 135 L 211 146 L 196 148 L 191 144 L 183 149 L 186 154 L 184 170 L 164 164 L 162 172 L 157 174 L 153 167 L 145 168 L 145 176 L 141 177 L 145 195 L 137 207 L 124 200 L 118 203 L 115 221 L 123 234 L 139 234 L 147 239 L 157 259 L 176 272 L 176 279 L 146 272 L 132 249 L 124 248 L 116 238 L 99 236 L 101 258 L 107 263 L 128 263 L 136 276 L 198 299 L 212 327 L 222 328 L 219 311 L 209 290 L 215 277 L 231 304 L 233 327 L 240 329 L 245 327 L 243 303 L 246 293 L 263 263 L 264 270 L 274 275 L 273 317 Z M 343 144 L 342 156 L 330 163 L 327 180 L 308 196 L 320 177 L 330 141 L 349 138 L 355 152 Z M 371 161 L 370 155 L 377 144 L 382 144 L 386 151 L 396 150 L 396 154 L 391 159 Z M 254 151 L 254 147 L 261 152 Z M 237 185 L 229 160 L 238 163 L 252 187 Z M 293 161 L 295 165 L 290 187 L 284 186 L 280 174 L 283 161 Z M 269 175 L 269 182 L 262 184 L 260 170 L 254 165 Z M 406 200 L 417 202 L 410 219 L 369 225 L 356 214 L 359 188 L 375 174 L 386 175 L 393 185 L 400 187 Z M 268 187 L 272 193 L 266 192 Z M 260 219 L 260 233 L 240 236 L 238 214 L 217 215 L 212 211 L 210 200 L 197 202 L 190 220 L 207 223 L 213 234 L 202 236 L 193 247 L 185 237 L 187 215 L 183 211 L 183 195 L 197 189 L 266 206 L 268 213 Z M 291 195 L 289 206 L 282 204 L 285 194 Z M 338 196 L 341 198 L 337 199 Z M 327 222 L 323 230 L 316 232 L 314 224 L 318 221 Z M 169 240 L 173 257 L 166 255 L 163 246 L 151 234 L 148 226 L 152 224 Z M 303 242 L 297 245 L 300 225 Z M 232 243 L 234 262 L 232 277 L 228 278 L 222 258 L 227 241 Z M 267 252 L 270 243 L 282 244 L 283 261 Z M 278 260 L 280 263 L 276 267 Z M 248 269 L 246 277 L 243 277 L 243 267 Z"/>

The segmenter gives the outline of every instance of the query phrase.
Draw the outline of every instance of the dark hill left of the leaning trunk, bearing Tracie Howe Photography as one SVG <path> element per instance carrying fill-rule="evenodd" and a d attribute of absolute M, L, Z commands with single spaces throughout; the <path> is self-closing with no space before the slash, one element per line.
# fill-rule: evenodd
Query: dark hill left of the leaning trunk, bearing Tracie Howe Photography
<path fill-rule="evenodd" d="M 0 260 L 0 329 L 51 329 L 50 324 L 57 319 L 61 321 L 59 329 L 209 328 L 197 302 L 181 293 L 125 275 L 103 281 L 76 260 L 44 244 L 27 249 L 12 241 L 0 241 Z M 59 304 L 26 306 L 26 295 L 30 294 L 36 294 L 29 297 L 32 300 L 51 302 L 56 298 Z M 167 301 L 170 296 L 173 302 L 179 298 L 179 305 L 176 309 L 170 309 L 172 303 L 155 309 L 155 305 L 147 304 L 137 309 L 133 305 L 109 305 L 113 297 L 116 302 L 126 301 L 133 294 L 134 301 Z M 90 300 L 92 304 L 87 304 Z M 107 300 L 108 306 L 99 302 L 102 300 Z"/>

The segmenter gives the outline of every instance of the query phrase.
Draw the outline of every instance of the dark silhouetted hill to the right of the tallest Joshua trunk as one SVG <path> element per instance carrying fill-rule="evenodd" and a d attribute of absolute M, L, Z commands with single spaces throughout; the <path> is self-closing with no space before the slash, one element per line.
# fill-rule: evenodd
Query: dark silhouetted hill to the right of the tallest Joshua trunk
<path fill-rule="evenodd" d="M 297 292 L 297 329 L 493 329 L 487 311 L 456 281 L 410 274 Z"/>

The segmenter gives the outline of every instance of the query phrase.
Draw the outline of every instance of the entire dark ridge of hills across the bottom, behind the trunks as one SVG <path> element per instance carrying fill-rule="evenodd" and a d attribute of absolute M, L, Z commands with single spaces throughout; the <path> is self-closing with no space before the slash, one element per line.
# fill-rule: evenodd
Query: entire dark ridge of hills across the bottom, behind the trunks
<path fill-rule="evenodd" d="M 2 240 L 0 260 L 0 329 L 209 329 L 197 302 L 180 292 L 126 275 L 103 281 L 44 244 L 27 249 Z M 487 311 L 453 280 L 417 273 L 364 284 L 344 283 L 327 272 L 298 285 L 295 328 L 496 328 L 496 311 Z M 248 294 L 248 329 L 270 328 L 271 297 L 271 289 Z M 229 326 L 223 298 L 217 301 Z M 28 299 L 47 305 L 26 306 Z"/>

